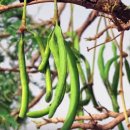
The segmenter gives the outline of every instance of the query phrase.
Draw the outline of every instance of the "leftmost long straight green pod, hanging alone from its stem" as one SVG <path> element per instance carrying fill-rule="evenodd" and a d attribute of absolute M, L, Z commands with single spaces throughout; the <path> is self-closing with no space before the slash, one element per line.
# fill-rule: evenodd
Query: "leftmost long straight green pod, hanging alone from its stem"
<path fill-rule="evenodd" d="M 18 44 L 18 61 L 19 61 L 20 79 L 21 79 L 21 86 L 22 86 L 22 101 L 21 101 L 21 108 L 19 112 L 19 118 L 24 118 L 28 110 L 29 86 L 28 86 L 28 77 L 26 72 L 23 34 L 21 34 L 20 41 Z"/>

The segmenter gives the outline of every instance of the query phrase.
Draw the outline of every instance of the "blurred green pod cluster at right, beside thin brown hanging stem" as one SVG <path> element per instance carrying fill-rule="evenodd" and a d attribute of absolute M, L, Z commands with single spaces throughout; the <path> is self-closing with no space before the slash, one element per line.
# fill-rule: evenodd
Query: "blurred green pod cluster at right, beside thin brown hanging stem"
<path fill-rule="evenodd" d="M 100 76 L 102 78 L 104 86 L 111 99 L 113 110 L 115 112 L 119 112 L 119 104 L 118 104 L 117 97 L 118 97 L 120 63 L 118 62 L 119 55 L 117 54 L 117 47 L 116 47 L 115 42 L 112 42 L 113 57 L 110 58 L 106 63 L 104 61 L 104 56 L 103 56 L 104 50 L 105 50 L 105 45 L 102 45 L 99 49 L 99 54 L 98 54 L 98 68 L 99 68 Z M 113 76 L 111 75 L 112 77 L 112 81 L 111 81 L 109 72 L 110 72 L 112 64 L 114 64 L 114 73 L 113 73 Z M 118 128 L 119 130 L 124 129 L 122 123 L 118 125 Z"/>

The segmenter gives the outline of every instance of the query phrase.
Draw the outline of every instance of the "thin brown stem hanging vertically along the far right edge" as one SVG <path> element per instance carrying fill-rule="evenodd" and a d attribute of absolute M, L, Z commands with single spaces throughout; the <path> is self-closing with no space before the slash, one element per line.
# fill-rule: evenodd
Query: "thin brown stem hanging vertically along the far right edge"
<path fill-rule="evenodd" d="M 126 103 L 125 103 L 125 98 L 124 98 L 124 89 L 123 89 L 123 39 L 124 39 L 124 32 L 122 32 L 121 37 L 120 37 L 120 91 L 119 94 L 121 96 L 121 100 L 122 100 L 122 107 L 124 110 L 124 116 L 125 116 L 125 121 L 127 124 L 128 129 L 130 130 L 130 122 L 128 119 L 128 115 L 127 115 L 127 110 L 126 110 Z"/>

